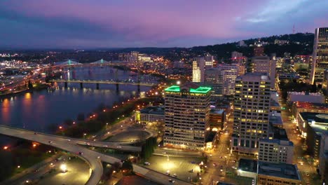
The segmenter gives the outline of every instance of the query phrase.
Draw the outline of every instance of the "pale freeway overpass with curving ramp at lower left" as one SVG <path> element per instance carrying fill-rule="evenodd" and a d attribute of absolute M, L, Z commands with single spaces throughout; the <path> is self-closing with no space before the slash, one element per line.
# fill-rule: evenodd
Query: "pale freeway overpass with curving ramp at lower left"
<path fill-rule="evenodd" d="M 24 130 L 20 128 L 12 128 L 5 125 L 0 125 L 0 134 L 8 135 L 11 137 L 18 137 L 20 139 L 27 139 L 34 142 L 39 142 L 41 144 L 47 144 L 57 149 L 62 149 L 65 151 L 69 151 L 71 153 L 79 153 L 79 152 L 83 153 L 83 155 L 81 155 L 80 157 L 88 162 L 88 164 L 90 165 L 90 169 L 92 170 L 90 174 L 90 179 L 86 183 L 87 185 L 96 185 L 99 183 L 103 173 L 103 167 L 101 163 L 102 161 L 110 164 L 113 164 L 115 162 L 121 163 L 121 159 L 107 156 L 104 153 L 99 153 L 97 151 L 92 151 L 90 149 L 87 149 L 83 146 L 79 146 L 78 145 L 80 144 L 79 142 L 83 142 L 82 141 L 83 139 L 60 137 L 57 135 L 46 135 L 39 132 L 35 135 L 34 131 Z M 67 139 L 70 139 L 70 141 L 68 141 Z M 127 146 L 121 146 L 121 147 L 122 147 L 121 149 L 123 149 L 123 147 L 127 147 Z M 145 167 L 141 167 L 135 164 L 133 165 L 133 171 L 136 172 L 137 174 L 142 175 L 146 179 L 151 179 L 160 184 L 171 184 L 168 181 L 168 179 L 174 179 L 172 177 L 168 177 L 165 174 L 153 170 L 149 170 Z M 190 183 L 179 179 L 175 179 L 175 184 L 190 185 Z"/>

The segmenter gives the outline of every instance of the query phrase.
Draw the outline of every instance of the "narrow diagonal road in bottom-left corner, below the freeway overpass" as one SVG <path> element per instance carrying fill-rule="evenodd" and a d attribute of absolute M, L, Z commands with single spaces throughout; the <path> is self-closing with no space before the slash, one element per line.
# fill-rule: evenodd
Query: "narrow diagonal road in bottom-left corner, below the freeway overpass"
<path fill-rule="evenodd" d="M 36 163 L 32 167 L 27 168 L 26 170 L 20 172 L 19 174 L 15 174 L 12 177 L 10 177 L 9 179 L 1 181 L 0 185 L 15 184 L 15 182 L 17 183 L 17 181 L 21 181 L 21 178 L 25 177 L 25 175 L 27 175 L 31 172 L 34 172 L 35 170 L 38 170 L 43 165 L 50 163 L 51 161 L 55 160 L 56 158 L 59 158 L 60 156 L 62 156 L 62 153 L 58 152 L 57 154 L 55 154 L 55 156 L 47 158 L 46 160 L 43 160 L 40 163 Z"/>

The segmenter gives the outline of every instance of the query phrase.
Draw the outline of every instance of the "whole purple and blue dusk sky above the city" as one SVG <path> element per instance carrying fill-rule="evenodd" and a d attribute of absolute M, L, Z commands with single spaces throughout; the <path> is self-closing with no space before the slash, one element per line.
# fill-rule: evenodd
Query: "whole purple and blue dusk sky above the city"
<path fill-rule="evenodd" d="M 1 0 L 0 48 L 190 47 L 328 27 L 327 0 Z"/>

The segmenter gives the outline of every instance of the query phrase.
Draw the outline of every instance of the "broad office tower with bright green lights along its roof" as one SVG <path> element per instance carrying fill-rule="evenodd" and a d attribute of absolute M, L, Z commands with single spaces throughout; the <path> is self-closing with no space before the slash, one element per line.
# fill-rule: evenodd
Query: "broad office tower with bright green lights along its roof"
<path fill-rule="evenodd" d="M 165 89 L 164 145 L 203 149 L 210 128 L 211 89 L 195 83 Z"/>

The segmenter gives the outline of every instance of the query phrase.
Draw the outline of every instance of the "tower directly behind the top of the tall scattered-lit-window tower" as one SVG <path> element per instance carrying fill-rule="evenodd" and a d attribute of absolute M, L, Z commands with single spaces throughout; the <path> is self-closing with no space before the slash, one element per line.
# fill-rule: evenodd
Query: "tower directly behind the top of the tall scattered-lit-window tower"
<path fill-rule="evenodd" d="M 271 79 L 271 88 L 275 88 L 275 67 L 277 65 L 277 60 L 275 57 L 270 60 L 270 57 L 252 57 L 252 71 L 256 73 L 267 73 Z"/>

